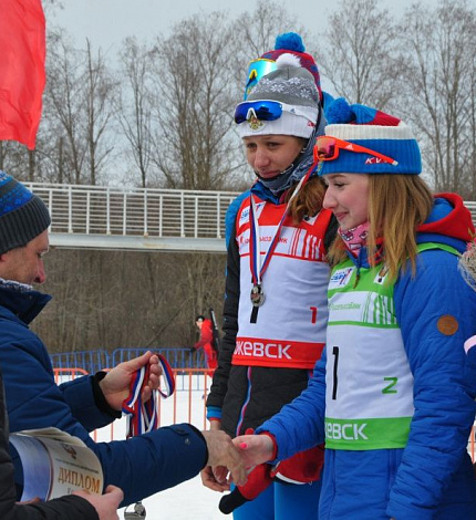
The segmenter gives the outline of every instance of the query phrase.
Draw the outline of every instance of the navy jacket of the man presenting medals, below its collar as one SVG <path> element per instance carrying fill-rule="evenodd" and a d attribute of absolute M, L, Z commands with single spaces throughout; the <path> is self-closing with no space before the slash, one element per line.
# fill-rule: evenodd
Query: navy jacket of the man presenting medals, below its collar
<path fill-rule="evenodd" d="M 205 439 L 187 424 L 159 428 L 128 440 L 94 443 L 69 404 L 73 402 L 77 412 L 79 399 L 84 397 L 83 413 L 93 409 L 89 377 L 60 389 L 51 374 L 44 345 L 20 324 L 2 331 L 0 366 L 11 431 L 54 426 L 79 437 L 101 460 L 104 483 L 123 489 L 123 506 L 188 480 L 205 466 L 208 456 Z"/>

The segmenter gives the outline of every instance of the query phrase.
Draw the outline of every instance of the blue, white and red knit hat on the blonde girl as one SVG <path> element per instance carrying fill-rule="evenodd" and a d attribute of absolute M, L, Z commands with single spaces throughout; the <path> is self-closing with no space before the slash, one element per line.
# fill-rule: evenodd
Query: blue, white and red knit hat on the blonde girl
<path fill-rule="evenodd" d="M 393 159 L 393 164 L 356 150 L 339 149 L 333 160 L 319 165 L 327 174 L 410 174 L 422 173 L 420 147 L 412 129 L 401 119 L 364 105 L 349 105 L 340 97 L 325 111 L 325 135 L 363 146 Z"/>

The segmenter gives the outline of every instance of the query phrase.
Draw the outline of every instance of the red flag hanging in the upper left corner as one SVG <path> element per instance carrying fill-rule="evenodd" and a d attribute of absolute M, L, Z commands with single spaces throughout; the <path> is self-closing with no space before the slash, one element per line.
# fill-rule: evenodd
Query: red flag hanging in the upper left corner
<path fill-rule="evenodd" d="M 34 149 L 45 84 L 41 0 L 0 0 L 0 141 Z"/>

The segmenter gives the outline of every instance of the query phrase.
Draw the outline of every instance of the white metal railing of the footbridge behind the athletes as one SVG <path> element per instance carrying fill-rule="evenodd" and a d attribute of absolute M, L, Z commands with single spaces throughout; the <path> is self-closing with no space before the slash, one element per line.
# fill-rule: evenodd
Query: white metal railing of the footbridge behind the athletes
<path fill-rule="evenodd" d="M 218 238 L 238 195 L 154 188 L 25 183 L 48 205 L 52 233 Z"/>

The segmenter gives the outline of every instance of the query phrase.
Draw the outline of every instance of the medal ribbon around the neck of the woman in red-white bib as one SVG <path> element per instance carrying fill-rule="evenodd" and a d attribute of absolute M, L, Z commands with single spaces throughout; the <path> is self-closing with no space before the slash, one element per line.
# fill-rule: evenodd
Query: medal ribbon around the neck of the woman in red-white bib
<path fill-rule="evenodd" d="M 260 243 L 260 235 L 259 235 L 259 223 L 258 223 L 258 216 L 257 216 L 257 207 L 255 202 L 255 198 L 252 194 L 250 194 L 250 250 L 249 250 L 249 268 L 251 271 L 252 283 L 253 285 L 261 285 L 261 280 L 265 274 L 265 271 L 268 269 L 269 262 L 271 260 L 272 253 L 275 252 L 276 246 L 278 245 L 279 235 L 282 229 L 282 225 L 284 222 L 286 217 L 288 216 L 289 206 L 291 205 L 291 200 L 298 195 L 299 190 L 306 185 L 311 176 L 312 171 L 314 171 L 315 166 L 318 163 L 313 163 L 311 167 L 308 169 L 306 175 L 301 178 L 298 186 L 296 187 L 293 194 L 288 200 L 286 206 L 286 210 L 282 214 L 281 220 L 278 223 L 278 227 L 275 231 L 275 236 L 272 237 L 271 243 L 269 245 L 268 251 L 265 254 L 265 261 L 261 263 L 261 243 Z M 266 204 L 266 202 L 265 202 Z"/>

